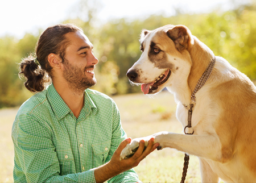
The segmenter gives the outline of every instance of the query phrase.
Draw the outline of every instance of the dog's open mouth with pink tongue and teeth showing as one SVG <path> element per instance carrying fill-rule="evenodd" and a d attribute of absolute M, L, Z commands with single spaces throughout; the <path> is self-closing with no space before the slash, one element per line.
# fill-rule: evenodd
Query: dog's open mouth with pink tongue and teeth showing
<path fill-rule="evenodd" d="M 165 72 L 163 72 L 158 78 L 156 78 L 155 81 L 148 84 L 142 84 L 141 90 L 143 91 L 144 94 L 155 93 L 155 90 L 158 89 L 158 86 L 164 84 L 170 76 L 171 70 L 168 69 Z"/>

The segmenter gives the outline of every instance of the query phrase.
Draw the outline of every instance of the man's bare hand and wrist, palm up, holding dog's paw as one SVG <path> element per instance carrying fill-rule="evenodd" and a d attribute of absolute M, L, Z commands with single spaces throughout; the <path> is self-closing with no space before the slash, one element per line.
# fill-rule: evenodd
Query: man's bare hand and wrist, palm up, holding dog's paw
<path fill-rule="evenodd" d="M 114 152 L 114 155 L 112 156 L 112 159 L 103 165 L 102 167 L 99 167 L 94 170 L 94 176 L 96 179 L 96 182 L 104 182 L 108 180 L 111 177 L 116 176 L 119 173 L 125 172 L 126 170 L 129 170 L 133 167 L 137 167 L 137 165 L 152 151 L 158 147 L 159 143 L 154 143 L 154 138 L 151 138 L 148 142 L 147 148 L 144 149 L 144 140 L 141 140 L 139 142 L 139 147 L 137 151 L 134 153 L 132 157 L 129 159 L 123 159 L 120 160 L 120 154 L 122 152 L 122 149 L 126 147 L 127 144 L 131 142 L 131 139 L 125 139 L 117 150 Z"/>

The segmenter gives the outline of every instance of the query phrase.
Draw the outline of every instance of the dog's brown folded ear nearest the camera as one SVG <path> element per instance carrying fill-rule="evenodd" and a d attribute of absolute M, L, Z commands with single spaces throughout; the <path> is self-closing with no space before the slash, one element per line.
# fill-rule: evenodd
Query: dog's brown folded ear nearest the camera
<path fill-rule="evenodd" d="M 175 47 L 178 51 L 183 51 L 187 49 L 189 44 L 191 44 L 191 32 L 185 26 L 175 26 L 174 28 L 166 32 L 169 38 L 174 41 Z"/>

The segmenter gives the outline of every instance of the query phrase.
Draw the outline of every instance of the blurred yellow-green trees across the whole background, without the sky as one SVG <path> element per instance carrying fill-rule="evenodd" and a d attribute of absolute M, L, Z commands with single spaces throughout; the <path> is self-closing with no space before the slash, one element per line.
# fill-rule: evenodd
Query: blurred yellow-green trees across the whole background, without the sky
<path fill-rule="evenodd" d="M 93 6 L 93 5 L 90 5 Z M 81 9 L 80 11 L 84 11 Z M 87 18 L 86 18 L 87 17 Z M 139 35 L 143 28 L 154 30 L 166 24 L 184 24 L 192 34 L 208 45 L 217 56 L 256 80 L 256 8 L 240 6 L 236 10 L 209 14 L 177 14 L 164 17 L 151 15 L 147 19 L 115 19 L 101 27 L 93 23 L 93 12 L 84 19 L 69 19 L 82 27 L 94 45 L 99 63 L 96 70 L 97 89 L 109 95 L 134 93 L 139 87 L 130 85 L 127 70 L 141 55 Z M 95 21 L 95 20 L 94 20 Z M 20 105 L 29 94 L 18 77 L 18 64 L 22 57 L 34 52 L 39 35 L 26 34 L 16 40 L 10 36 L 0 38 L 0 107 Z"/>

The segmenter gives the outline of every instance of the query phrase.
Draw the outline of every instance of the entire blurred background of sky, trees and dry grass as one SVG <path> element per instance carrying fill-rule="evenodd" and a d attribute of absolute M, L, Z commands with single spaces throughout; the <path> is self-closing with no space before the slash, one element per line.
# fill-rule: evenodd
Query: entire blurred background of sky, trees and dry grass
<path fill-rule="evenodd" d="M 1 0 L 0 20 L 0 182 L 13 181 L 11 126 L 18 107 L 32 95 L 18 77 L 18 63 L 34 52 L 40 34 L 54 24 L 75 23 L 93 43 L 99 60 L 93 89 L 114 98 L 123 128 L 132 138 L 161 130 L 182 131 L 171 94 L 144 97 L 137 94 L 141 88 L 131 86 L 126 77 L 141 55 L 138 39 L 143 28 L 184 24 L 216 56 L 256 80 L 256 0 Z M 147 131 L 142 132 L 144 129 Z M 179 177 L 180 168 L 168 166 L 176 165 L 176 157 L 183 154 L 172 150 L 156 153 L 150 155 L 155 163 L 147 159 L 137 167 L 139 176 L 149 177 L 143 179 L 148 182 L 180 181 L 173 178 Z M 168 156 L 168 161 L 159 155 Z M 194 161 L 188 180 L 198 182 L 200 173 Z M 182 157 L 179 165 L 182 168 Z M 145 174 L 148 169 L 153 173 Z M 174 174 L 163 176 L 166 169 Z"/>

